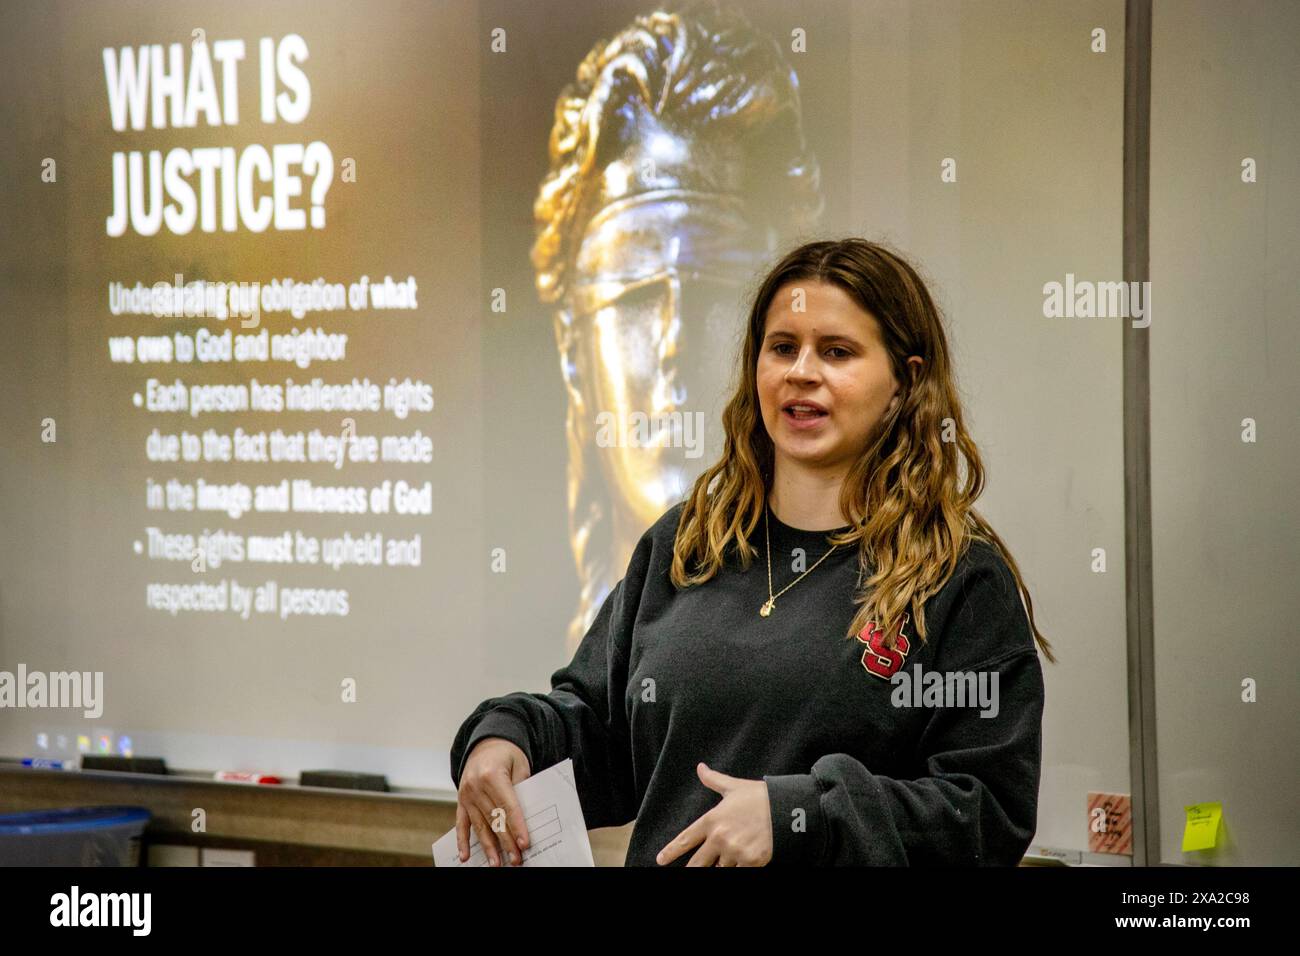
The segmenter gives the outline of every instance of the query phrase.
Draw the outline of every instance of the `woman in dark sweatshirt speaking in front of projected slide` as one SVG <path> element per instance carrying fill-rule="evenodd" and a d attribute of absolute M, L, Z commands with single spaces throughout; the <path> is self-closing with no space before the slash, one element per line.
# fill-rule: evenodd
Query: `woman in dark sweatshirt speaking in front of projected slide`
<path fill-rule="evenodd" d="M 572 757 L 589 827 L 636 819 L 627 865 L 1014 865 L 1035 641 L 1054 658 L 972 507 L 983 467 L 924 284 L 864 239 L 796 248 L 738 372 L 722 460 L 642 536 L 551 692 L 460 727 L 462 860 L 473 826 L 519 862 L 514 784 Z"/>

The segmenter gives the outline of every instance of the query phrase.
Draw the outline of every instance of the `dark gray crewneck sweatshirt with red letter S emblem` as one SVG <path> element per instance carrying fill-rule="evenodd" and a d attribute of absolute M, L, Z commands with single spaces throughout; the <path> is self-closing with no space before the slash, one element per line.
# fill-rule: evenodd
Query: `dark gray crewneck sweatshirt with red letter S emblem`
<path fill-rule="evenodd" d="M 762 520 L 749 570 L 732 550 L 710 581 L 677 591 L 668 571 L 681 509 L 641 537 L 550 693 L 494 697 L 465 719 L 451 748 L 456 786 L 488 736 L 517 744 L 533 773 L 572 757 L 586 825 L 636 819 L 627 865 L 655 866 L 722 801 L 699 780 L 703 761 L 767 782 L 772 865 L 1017 864 L 1037 817 L 1043 671 L 996 549 L 972 541 L 926 604 L 928 640 L 907 622 L 889 650 L 871 630 L 845 636 L 854 548 L 759 615 Z M 776 593 L 833 532 L 768 520 Z"/>

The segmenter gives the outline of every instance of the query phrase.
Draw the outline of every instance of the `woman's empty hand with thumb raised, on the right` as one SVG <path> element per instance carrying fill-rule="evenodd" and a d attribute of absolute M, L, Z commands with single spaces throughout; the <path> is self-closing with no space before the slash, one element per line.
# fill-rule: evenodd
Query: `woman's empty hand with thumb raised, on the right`
<path fill-rule="evenodd" d="M 670 840 L 656 862 L 671 864 L 703 843 L 686 866 L 766 866 L 772 858 L 767 782 L 728 777 L 706 763 L 699 763 L 696 771 L 706 787 L 723 795 L 722 803 Z"/>

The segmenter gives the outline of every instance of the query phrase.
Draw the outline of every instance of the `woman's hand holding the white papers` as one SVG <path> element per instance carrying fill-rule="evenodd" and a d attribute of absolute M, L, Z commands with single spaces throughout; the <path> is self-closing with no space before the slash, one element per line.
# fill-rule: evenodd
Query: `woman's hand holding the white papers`
<path fill-rule="evenodd" d="M 504 737 L 484 737 L 469 752 L 460 788 L 456 791 L 456 848 L 460 862 L 469 858 L 469 827 L 478 834 L 478 844 L 493 866 L 500 866 L 507 853 L 512 864 L 523 862 L 528 847 L 524 810 L 515 796 L 515 784 L 532 775 L 528 756 Z M 498 813 L 498 810 L 503 810 Z M 494 819 L 504 825 L 503 832 L 493 830 Z M 498 825 L 498 826 L 500 826 Z M 499 843 L 498 843 L 499 838 Z"/>

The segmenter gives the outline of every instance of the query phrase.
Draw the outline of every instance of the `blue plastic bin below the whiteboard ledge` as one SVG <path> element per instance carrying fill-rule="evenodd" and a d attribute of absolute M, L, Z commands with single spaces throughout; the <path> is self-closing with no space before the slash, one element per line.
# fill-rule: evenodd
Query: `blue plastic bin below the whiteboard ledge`
<path fill-rule="evenodd" d="M 139 866 L 143 806 L 0 814 L 0 866 Z"/>

